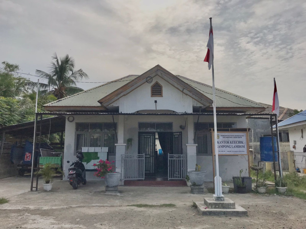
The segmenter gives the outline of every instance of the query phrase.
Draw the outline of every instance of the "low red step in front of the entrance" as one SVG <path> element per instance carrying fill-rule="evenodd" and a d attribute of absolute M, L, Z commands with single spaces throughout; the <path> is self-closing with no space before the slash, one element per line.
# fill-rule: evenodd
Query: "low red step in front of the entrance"
<path fill-rule="evenodd" d="M 181 187 L 187 186 L 186 180 L 125 180 L 125 186 L 160 186 L 160 187 Z"/>

